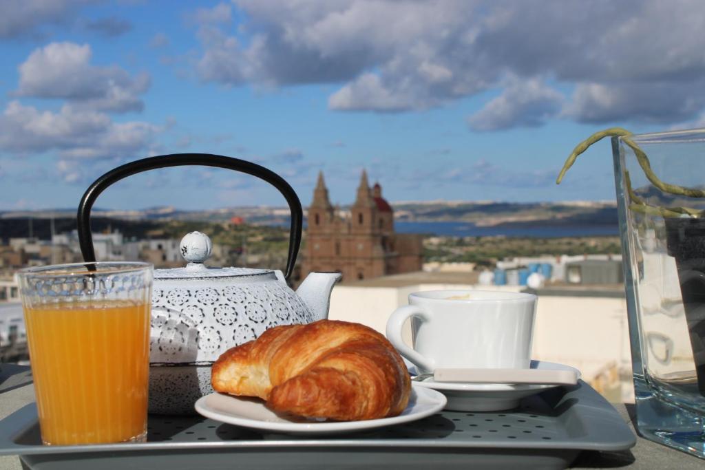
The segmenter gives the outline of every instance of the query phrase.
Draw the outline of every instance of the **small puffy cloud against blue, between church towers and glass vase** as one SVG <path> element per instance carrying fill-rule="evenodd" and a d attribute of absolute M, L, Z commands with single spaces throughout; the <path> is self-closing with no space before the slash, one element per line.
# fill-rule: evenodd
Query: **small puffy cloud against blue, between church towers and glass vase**
<path fill-rule="evenodd" d="M 537 79 L 515 78 L 467 122 L 473 130 L 537 127 L 560 111 L 563 100 L 562 94 Z"/>

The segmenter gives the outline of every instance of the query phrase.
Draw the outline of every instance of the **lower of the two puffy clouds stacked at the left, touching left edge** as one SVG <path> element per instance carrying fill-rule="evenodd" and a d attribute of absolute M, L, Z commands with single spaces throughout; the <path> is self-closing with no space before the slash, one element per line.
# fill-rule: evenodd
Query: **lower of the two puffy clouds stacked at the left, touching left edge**
<path fill-rule="evenodd" d="M 97 111 L 65 104 L 40 111 L 11 101 L 0 116 L 0 149 L 17 154 L 57 151 L 61 159 L 131 159 L 145 156 L 161 126 L 115 123 Z"/>

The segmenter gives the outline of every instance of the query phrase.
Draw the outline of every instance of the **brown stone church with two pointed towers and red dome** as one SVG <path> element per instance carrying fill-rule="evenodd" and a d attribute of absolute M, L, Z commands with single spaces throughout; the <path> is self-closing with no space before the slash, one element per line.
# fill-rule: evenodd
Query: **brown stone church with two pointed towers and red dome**
<path fill-rule="evenodd" d="M 382 187 L 362 171 L 350 216 L 341 216 L 319 173 L 308 209 L 305 271 L 339 271 L 343 281 L 421 271 L 422 236 L 394 232 L 394 213 Z"/>

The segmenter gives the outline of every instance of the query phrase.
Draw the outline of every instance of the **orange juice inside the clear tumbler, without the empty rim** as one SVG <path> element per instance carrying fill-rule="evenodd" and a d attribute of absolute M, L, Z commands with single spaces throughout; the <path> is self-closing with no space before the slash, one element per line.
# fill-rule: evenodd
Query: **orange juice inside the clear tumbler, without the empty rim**
<path fill-rule="evenodd" d="M 99 300 L 25 305 L 44 443 L 145 438 L 149 308 Z"/>

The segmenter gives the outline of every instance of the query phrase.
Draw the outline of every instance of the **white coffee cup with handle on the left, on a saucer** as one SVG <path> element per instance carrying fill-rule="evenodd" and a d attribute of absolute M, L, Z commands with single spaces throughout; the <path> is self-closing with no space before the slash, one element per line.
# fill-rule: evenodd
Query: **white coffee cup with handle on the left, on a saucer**
<path fill-rule="evenodd" d="M 528 369 L 537 297 L 519 292 L 414 292 L 387 321 L 387 338 L 420 371 L 445 368 Z M 412 319 L 414 347 L 402 339 Z"/>

